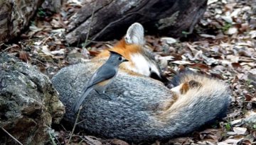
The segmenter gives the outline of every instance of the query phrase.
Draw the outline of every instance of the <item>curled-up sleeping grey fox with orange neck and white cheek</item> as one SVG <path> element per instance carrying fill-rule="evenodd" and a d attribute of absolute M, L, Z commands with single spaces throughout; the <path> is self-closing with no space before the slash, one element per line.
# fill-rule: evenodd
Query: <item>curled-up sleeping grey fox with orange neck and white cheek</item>
<path fill-rule="evenodd" d="M 124 62 L 105 93 L 92 92 L 82 103 L 78 127 L 102 137 L 126 141 L 169 139 L 192 132 L 201 125 L 225 116 L 230 104 L 228 86 L 223 81 L 191 72 L 181 73 L 166 88 L 159 66 L 144 47 L 144 29 L 134 23 L 122 40 L 110 50 L 122 54 Z M 66 107 L 64 120 L 73 124 L 75 99 L 87 79 L 109 57 L 107 50 L 89 62 L 61 69 L 52 81 Z M 152 79 L 150 76 L 156 76 Z"/>

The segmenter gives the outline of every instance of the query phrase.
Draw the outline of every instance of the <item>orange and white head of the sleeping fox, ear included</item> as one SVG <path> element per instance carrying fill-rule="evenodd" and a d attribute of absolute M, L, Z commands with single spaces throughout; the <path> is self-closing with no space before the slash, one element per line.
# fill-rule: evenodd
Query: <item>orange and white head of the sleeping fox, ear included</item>
<path fill-rule="evenodd" d="M 153 79 L 163 80 L 161 70 L 156 63 L 154 54 L 144 47 L 144 28 L 140 23 L 133 23 L 126 35 L 110 50 L 122 54 L 129 62 L 121 64 L 121 68 L 128 69 L 137 74 L 150 76 Z M 101 52 L 97 57 L 108 56 L 107 51 Z"/>

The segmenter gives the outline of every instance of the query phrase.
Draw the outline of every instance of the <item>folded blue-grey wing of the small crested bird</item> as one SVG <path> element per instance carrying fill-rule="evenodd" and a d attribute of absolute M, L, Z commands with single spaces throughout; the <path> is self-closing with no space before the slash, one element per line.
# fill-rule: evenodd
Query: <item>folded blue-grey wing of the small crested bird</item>
<path fill-rule="evenodd" d="M 104 65 L 101 66 L 95 74 L 92 75 L 92 79 L 90 80 L 90 84 L 88 84 L 87 88 L 91 86 L 101 83 L 102 81 L 107 81 L 114 77 L 117 74 L 116 69 L 113 66 Z"/>

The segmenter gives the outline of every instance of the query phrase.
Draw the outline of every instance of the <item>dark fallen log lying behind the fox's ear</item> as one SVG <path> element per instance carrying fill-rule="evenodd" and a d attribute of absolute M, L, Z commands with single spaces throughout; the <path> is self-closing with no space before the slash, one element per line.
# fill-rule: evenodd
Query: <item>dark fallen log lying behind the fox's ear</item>
<path fill-rule="evenodd" d="M 142 23 L 149 34 L 181 37 L 183 31 L 193 31 L 206 6 L 207 0 L 95 0 L 73 16 L 66 40 L 70 44 L 84 41 L 89 27 L 89 40 L 119 38 L 134 22 Z"/>

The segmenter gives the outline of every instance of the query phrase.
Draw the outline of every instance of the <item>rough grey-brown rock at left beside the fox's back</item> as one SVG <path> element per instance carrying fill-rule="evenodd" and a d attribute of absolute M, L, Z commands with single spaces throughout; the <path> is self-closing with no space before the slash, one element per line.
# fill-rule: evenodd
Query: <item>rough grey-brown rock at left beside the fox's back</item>
<path fill-rule="evenodd" d="M 0 54 L 0 127 L 22 144 L 44 144 L 50 125 L 60 122 L 63 103 L 48 76 L 36 67 Z M 16 144 L 0 129 L 0 144 Z"/>

